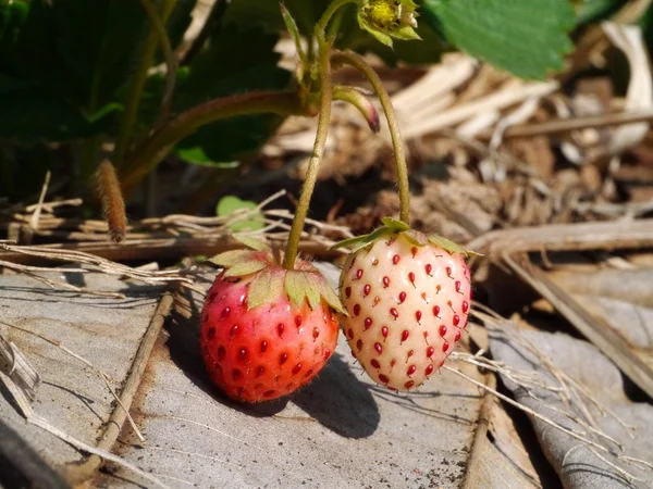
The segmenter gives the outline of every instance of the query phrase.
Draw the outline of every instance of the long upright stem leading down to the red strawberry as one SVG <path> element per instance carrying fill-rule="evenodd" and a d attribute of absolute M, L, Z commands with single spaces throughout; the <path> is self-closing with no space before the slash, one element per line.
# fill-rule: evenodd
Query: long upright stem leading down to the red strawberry
<path fill-rule="evenodd" d="M 308 213 L 308 206 L 310 204 L 310 198 L 313 189 L 316 188 L 316 181 L 318 179 L 318 172 L 320 170 L 320 163 L 324 155 L 324 146 L 326 145 L 326 136 L 329 135 L 329 124 L 331 122 L 331 103 L 333 101 L 333 86 L 331 83 L 331 49 L 333 45 L 334 34 L 330 33 L 326 36 L 326 27 L 329 21 L 335 12 L 347 3 L 354 3 L 356 0 L 334 0 L 324 11 L 320 21 L 316 24 L 315 36 L 318 40 L 318 73 L 320 76 L 320 115 L 318 117 L 318 130 L 316 134 L 316 141 L 313 143 L 312 154 L 308 163 L 308 172 L 304 186 L 301 187 L 301 195 L 299 196 L 299 203 L 295 211 L 295 218 L 293 220 L 293 226 L 288 234 L 288 242 L 283 259 L 283 267 L 286 269 L 295 268 L 295 260 L 297 259 L 297 252 L 299 251 L 299 239 L 301 238 L 301 230 L 304 229 L 304 222 L 306 221 L 306 214 Z"/>

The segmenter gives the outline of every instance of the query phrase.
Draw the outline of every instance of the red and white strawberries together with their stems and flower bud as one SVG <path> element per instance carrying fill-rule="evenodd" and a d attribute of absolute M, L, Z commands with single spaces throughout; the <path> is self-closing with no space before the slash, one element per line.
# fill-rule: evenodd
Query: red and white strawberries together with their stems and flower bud
<path fill-rule="evenodd" d="M 467 324 L 471 284 L 464 250 L 444 238 L 427 238 L 407 224 L 406 158 L 390 96 L 362 57 L 333 50 L 338 9 L 347 3 L 335 0 L 317 23 L 315 63 L 303 50 L 297 24 L 282 8 L 303 60 L 298 91 L 307 98 L 313 92 L 319 97 L 313 152 L 283 261 L 267 244 L 243 237 L 251 250 L 227 251 L 211 259 L 224 271 L 215 278 L 202 311 L 201 353 L 214 384 L 237 400 L 274 399 L 310 381 L 335 349 L 337 314 L 353 354 L 374 380 L 391 389 L 419 386 L 444 363 Z M 418 37 L 415 7 L 410 0 L 364 1 L 357 17 L 365 29 L 391 46 L 393 38 Z M 297 260 L 331 104 L 337 97 L 331 74 L 342 64 L 359 70 L 381 100 L 397 162 L 402 218 L 387 218 L 371 235 L 341 243 L 356 246 L 343 272 L 344 308 L 324 277 Z M 343 100 L 358 106 L 370 127 L 378 129 L 379 116 L 365 98 Z"/>

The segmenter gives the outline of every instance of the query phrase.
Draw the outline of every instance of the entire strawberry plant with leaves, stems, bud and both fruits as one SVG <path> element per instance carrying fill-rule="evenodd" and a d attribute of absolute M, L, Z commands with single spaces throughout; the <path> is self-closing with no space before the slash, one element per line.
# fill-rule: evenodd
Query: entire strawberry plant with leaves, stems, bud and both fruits
<path fill-rule="evenodd" d="M 126 222 L 121 190 L 131 193 L 169 154 L 220 167 L 256 151 L 283 117 L 317 115 L 315 147 L 283 258 L 245 238 L 251 250 L 212 259 L 225 269 L 202 313 L 202 358 L 215 384 L 235 399 L 284 396 L 326 362 L 340 314 L 353 352 L 373 379 L 393 389 L 417 387 L 460 337 L 470 303 L 469 272 L 464 250 L 409 227 L 397 120 L 361 53 L 375 52 L 391 64 L 423 63 L 455 45 L 520 76 L 543 77 L 562 67 L 571 47 L 572 4 L 287 0 L 280 9 L 272 0 L 229 7 L 218 1 L 196 41 L 180 53 L 195 3 L 0 0 L 0 137 L 23 147 L 79 141 L 71 146 L 78 180 L 97 175 L 111 236 L 120 240 Z M 278 65 L 273 51 L 282 30 L 297 48 L 293 74 Z M 417 39 L 422 42 L 411 42 Z M 164 74 L 152 70 L 161 63 Z M 341 289 L 348 314 L 320 273 L 297 260 L 332 102 L 353 104 L 379 130 L 370 101 L 355 87 L 333 85 L 332 73 L 343 65 L 361 72 L 380 98 L 402 204 L 399 221 L 386 220 L 371 235 L 347 242 L 355 246 Z M 9 179 L 13 171 L 3 165 Z"/>

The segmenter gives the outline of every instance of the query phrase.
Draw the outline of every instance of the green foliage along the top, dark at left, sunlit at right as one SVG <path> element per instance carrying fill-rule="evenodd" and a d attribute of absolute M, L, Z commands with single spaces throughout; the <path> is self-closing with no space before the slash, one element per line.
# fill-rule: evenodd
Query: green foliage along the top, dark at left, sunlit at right
<path fill-rule="evenodd" d="M 362 1 L 362 0 L 361 0 Z M 177 0 L 167 28 L 178 48 L 197 0 Z M 310 36 L 329 0 L 285 0 L 299 30 Z M 563 67 L 569 34 L 621 8 L 624 0 L 419 0 L 422 41 L 377 42 L 346 7 L 341 49 L 373 52 L 390 65 L 436 62 L 461 49 L 526 78 Z M 649 12 L 644 28 L 651 42 Z M 51 143 L 116 134 L 140 45 L 150 28 L 137 0 L 0 0 L 0 191 L 15 197 L 51 167 Z M 283 35 L 279 0 L 237 0 L 208 26 L 206 42 L 177 70 L 172 111 L 212 98 L 291 88 L 274 48 Z M 159 53 L 156 64 L 163 60 Z M 135 139 L 156 120 L 164 90 L 152 71 L 140 104 Z M 233 167 L 273 134 L 278 116 L 243 116 L 209 124 L 175 148 L 194 164 Z M 26 171 L 22 162 L 27 161 Z M 230 163 L 224 163 L 230 162 Z"/>

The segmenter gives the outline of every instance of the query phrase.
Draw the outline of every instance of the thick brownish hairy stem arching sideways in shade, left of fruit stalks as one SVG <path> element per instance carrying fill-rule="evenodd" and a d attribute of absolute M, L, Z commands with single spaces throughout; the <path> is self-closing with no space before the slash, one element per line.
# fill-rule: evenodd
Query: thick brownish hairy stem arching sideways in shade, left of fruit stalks
<path fill-rule="evenodd" d="M 315 110 L 305 106 L 294 91 L 238 93 L 189 109 L 168 121 L 125 160 L 121 172 L 125 192 L 151 172 L 177 141 L 200 126 L 237 115 L 261 113 L 315 115 Z"/>

